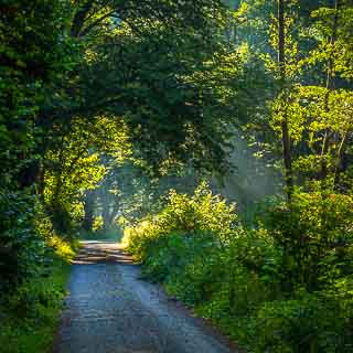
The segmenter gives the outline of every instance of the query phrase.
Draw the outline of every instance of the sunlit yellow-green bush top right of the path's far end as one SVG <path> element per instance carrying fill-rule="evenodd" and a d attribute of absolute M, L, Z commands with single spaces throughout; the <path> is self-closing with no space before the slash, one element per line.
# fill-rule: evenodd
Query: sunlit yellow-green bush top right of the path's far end
<path fill-rule="evenodd" d="M 212 232 L 226 243 L 237 221 L 234 208 L 235 205 L 213 196 L 205 183 L 200 184 L 192 196 L 172 190 L 160 213 L 125 228 L 125 242 L 138 260 L 146 259 L 150 243 L 171 233 Z"/>

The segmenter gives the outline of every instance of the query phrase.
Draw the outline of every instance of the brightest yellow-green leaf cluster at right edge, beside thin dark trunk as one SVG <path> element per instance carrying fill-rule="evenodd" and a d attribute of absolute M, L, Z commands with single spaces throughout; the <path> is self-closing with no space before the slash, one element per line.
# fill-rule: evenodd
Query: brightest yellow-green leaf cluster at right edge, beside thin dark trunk
<path fill-rule="evenodd" d="M 289 131 L 295 149 L 299 149 L 295 159 L 298 173 L 320 171 L 320 158 L 324 158 L 328 168 L 334 172 L 342 148 L 353 129 L 353 95 L 347 89 L 329 90 L 319 86 L 293 86 L 274 100 L 272 127 L 280 133 L 280 121 L 286 111 Z M 324 131 L 330 131 L 327 139 Z M 322 153 L 323 145 L 327 150 Z M 300 149 L 306 149 L 306 153 Z M 307 162 L 306 162 L 307 161 Z"/>

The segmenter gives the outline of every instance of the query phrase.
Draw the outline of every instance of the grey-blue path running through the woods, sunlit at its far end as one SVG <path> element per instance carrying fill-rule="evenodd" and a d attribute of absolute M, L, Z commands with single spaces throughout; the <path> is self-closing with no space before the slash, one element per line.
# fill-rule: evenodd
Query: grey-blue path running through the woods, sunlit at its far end
<path fill-rule="evenodd" d="M 73 265 L 54 353 L 226 353 L 202 320 L 139 279 L 115 243 L 85 242 Z"/>

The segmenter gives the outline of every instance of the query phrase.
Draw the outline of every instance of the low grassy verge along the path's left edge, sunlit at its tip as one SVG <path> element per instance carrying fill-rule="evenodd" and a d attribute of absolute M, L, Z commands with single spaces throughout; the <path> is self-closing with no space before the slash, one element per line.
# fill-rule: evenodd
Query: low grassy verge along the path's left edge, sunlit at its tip
<path fill-rule="evenodd" d="M 0 351 L 3 353 L 49 353 L 52 351 L 66 284 L 69 259 L 67 244 L 56 244 L 47 277 L 35 277 L 20 286 L 0 307 Z"/>

